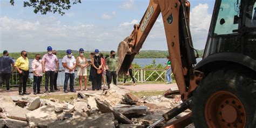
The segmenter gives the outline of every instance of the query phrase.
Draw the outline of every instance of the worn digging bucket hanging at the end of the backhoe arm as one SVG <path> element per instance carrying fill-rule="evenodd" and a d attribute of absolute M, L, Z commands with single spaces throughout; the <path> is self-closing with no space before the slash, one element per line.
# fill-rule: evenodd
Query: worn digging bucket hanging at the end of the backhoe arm
<path fill-rule="evenodd" d="M 117 72 L 118 72 L 118 76 L 122 76 L 124 73 L 126 73 L 126 71 L 129 70 L 131 62 L 135 55 L 131 52 L 129 48 L 129 44 L 126 41 L 122 41 L 118 45 L 117 55 L 118 55 Z"/>

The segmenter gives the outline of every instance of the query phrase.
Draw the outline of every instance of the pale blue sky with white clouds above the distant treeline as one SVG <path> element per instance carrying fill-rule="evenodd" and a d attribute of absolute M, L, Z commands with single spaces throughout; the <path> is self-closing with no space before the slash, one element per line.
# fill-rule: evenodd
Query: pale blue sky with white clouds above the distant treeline
<path fill-rule="evenodd" d="M 194 46 L 204 49 L 214 1 L 190 1 L 191 33 Z M 45 51 L 84 48 L 117 50 L 119 42 L 130 35 L 133 24 L 139 23 L 149 1 L 82 1 L 59 14 L 34 14 L 23 8 L 22 0 L 11 6 L 0 1 L 0 51 Z M 161 16 L 153 26 L 142 50 L 167 50 Z"/>

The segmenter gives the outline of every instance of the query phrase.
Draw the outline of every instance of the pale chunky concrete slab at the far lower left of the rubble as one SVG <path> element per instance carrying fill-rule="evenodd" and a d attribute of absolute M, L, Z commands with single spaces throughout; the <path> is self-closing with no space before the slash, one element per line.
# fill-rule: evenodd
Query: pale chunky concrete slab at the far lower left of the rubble
<path fill-rule="evenodd" d="M 22 120 L 22 121 L 26 121 L 26 113 L 31 112 L 19 106 L 5 107 L 5 111 L 6 111 L 7 117 L 12 119 Z"/>

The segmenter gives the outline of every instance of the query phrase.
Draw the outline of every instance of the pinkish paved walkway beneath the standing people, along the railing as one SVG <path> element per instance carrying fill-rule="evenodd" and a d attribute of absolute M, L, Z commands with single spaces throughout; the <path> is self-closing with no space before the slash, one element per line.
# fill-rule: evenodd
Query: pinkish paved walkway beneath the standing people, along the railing
<path fill-rule="evenodd" d="M 64 93 L 63 92 L 63 86 L 58 86 L 60 91 L 59 92 L 51 92 L 51 93 L 44 93 L 41 95 L 33 95 L 33 89 L 31 86 L 27 87 L 27 91 L 31 92 L 30 95 L 24 95 L 24 96 L 42 96 L 42 95 L 72 95 L 73 92 Z M 177 84 L 137 84 L 136 86 L 133 86 L 133 84 L 130 85 L 118 85 L 120 89 L 130 92 L 130 91 L 164 91 L 170 89 L 170 87 L 177 87 Z M 104 89 L 107 89 L 107 86 L 103 87 Z M 96 92 L 102 92 L 102 91 L 92 91 L 91 86 L 87 87 L 88 91 L 83 91 L 86 93 L 96 93 Z M 44 91 L 43 87 L 41 87 L 42 92 Z M 75 90 L 77 92 L 80 92 L 80 87 L 75 86 Z M 0 88 L 0 95 L 5 96 L 19 96 L 18 95 L 18 87 L 12 88 L 11 91 L 6 91 L 4 87 Z"/>

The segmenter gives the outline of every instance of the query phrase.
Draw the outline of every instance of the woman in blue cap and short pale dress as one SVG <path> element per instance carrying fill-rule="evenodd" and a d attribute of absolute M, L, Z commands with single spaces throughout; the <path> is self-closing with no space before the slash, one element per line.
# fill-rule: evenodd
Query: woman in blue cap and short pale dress
<path fill-rule="evenodd" d="M 77 62 L 77 76 L 79 76 L 80 91 L 83 91 L 83 78 L 84 78 L 84 89 L 87 91 L 87 59 L 84 56 L 84 49 L 79 49 L 79 56 L 76 59 Z"/>

